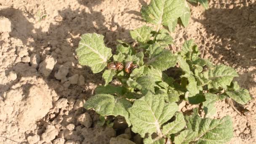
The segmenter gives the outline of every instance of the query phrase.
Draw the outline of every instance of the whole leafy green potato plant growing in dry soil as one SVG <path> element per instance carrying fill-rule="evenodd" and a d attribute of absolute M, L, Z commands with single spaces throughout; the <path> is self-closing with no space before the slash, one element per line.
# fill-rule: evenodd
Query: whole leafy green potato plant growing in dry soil
<path fill-rule="evenodd" d="M 152 0 L 143 6 L 141 15 L 154 27 L 131 30 L 136 46 L 118 40 L 115 53 L 104 45 L 104 36 L 84 34 L 76 49 L 81 65 L 93 73 L 103 72 L 105 85 L 86 101 L 85 109 L 93 109 L 101 119 L 122 116 L 144 144 L 222 144 L 233 136 L 229 116 L 212 119 L 215 102 L 233 99 L 246 104 L 251 96 L 233 80 L 237 72 L 226 65 L 214 65 L 201 53 L 193 40 L 185 41 L 181 51 L 173 53 L 173 21 L 186 10 L 184 0 Z M 181 18 L 182 20 L 182 18 Z M 183 22 L 183 21 L 182 21 Z M 175 69 L 175 74 L 170 73 Z M 111 83 L 115 79 L 117 84 Z M 178 104 L 187 101 L 198 108 L 192 115 L 179 112 Z"/>

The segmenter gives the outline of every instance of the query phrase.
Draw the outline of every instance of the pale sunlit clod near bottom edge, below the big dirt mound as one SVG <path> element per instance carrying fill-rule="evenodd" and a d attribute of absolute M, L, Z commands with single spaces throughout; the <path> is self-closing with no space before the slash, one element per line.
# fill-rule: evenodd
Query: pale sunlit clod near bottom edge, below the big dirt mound
<path fill-rule="evenodd" d="M 58 135 L 58 130 L 54 125 L 47 125 L 45 132 L 42 134 L 42 140 L 45 142 L 51 142 Z"/>

